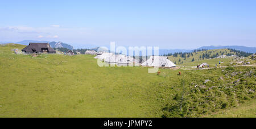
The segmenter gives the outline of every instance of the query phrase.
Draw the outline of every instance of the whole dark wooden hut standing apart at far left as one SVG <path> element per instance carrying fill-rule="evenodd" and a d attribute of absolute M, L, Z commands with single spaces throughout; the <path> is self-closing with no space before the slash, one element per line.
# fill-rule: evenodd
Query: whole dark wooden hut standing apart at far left
<path fill-rule="evenodd" d="M 27 54 L 32 54 L 32 53 L 55 54 L 56 53 L 56 51 L 51 48 L 49 43 L 30 43 L 27 47 L 22 49 L 22 52 Z"/>

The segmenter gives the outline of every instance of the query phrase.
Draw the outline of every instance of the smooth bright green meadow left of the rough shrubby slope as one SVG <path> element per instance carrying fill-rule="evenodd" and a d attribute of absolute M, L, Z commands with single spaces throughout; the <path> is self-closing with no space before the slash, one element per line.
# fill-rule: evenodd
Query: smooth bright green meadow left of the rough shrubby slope
<path fill-rule="evenodd" d="M 14 55 L 1 47 L 0 116 L 154 117 L 164 79 L 147 68 L 104 67 L 90 55 Z"/>

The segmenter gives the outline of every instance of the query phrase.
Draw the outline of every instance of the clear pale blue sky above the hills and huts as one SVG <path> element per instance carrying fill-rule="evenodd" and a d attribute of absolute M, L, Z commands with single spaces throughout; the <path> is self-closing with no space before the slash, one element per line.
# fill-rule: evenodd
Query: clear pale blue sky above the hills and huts
<path fill-rule="evenodd" d="M 256 1 L 2 1 L 0 41 L 256 47 Z"/>

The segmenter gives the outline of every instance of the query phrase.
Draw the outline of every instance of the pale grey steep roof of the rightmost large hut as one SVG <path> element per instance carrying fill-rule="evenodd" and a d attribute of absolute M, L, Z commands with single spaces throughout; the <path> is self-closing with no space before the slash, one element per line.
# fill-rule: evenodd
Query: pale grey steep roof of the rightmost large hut
<path fill-rule="evenodd" d="M 143 66 L 163 66 L 174 67 L 176 66 L 172 61 L 168 60 L 166 56 L 150 56 L 150 59 L 142 63 Z"/>

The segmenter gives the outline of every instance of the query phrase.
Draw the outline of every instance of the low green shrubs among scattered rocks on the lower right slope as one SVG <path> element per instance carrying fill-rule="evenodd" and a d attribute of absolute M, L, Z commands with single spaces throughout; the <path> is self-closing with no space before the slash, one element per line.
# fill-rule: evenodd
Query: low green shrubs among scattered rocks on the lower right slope
<path fill-rule="evenodd" d="M 227 67 L 227 70 L 237 70 L 236 73 L 249 73 L 254 68 L 240 69 Z M 246 72 L 247 71 L 247 72 Z M 251 74 L 253 74 L 251 72 Z M 207 74 L 210 72 L 207 71 Z M 213 74 L 216 70 L 213 70 Z M 255 79 L 244 76 L 236 76 L 234 78 L 223 78 L 219 81 L 220 76 L 224 76 L 226 72 L 220 72 L 217 76 L 207 76 L 205 74 L 189 74 L 189 77 L 202 78 L 197 81 L 179 80 L 180 86 L 175 91 L 175 95 L 170 98 L 170 102 L 163 109 L 163 117 L 199 117 L 205 114 L 216 112 L 220 109 L 235 107 L 240 103 L 255 98 Z M 228 72 L 230 73 L 230 72 Z M 233 72 L 231 72 L 233 73 Z M 243 75 L 243 74 L 242 74 Z M 211 80 L 207 84 L 201 84 L 201 81 Z M 236 83 L 230 83 L 240 80 Z M 188 88 L 188 89 L 185 89 Z M 248 93 L 248 91 L 250 91 Z"/>

